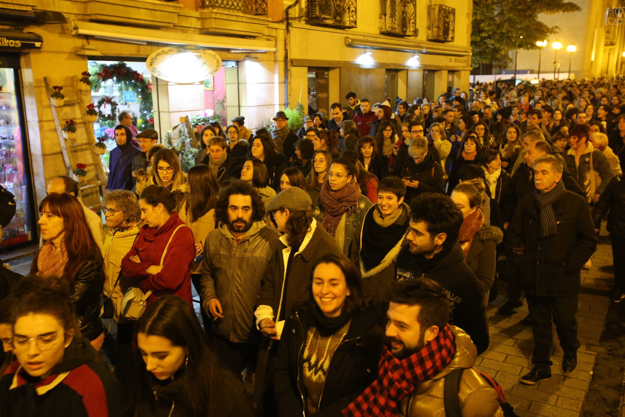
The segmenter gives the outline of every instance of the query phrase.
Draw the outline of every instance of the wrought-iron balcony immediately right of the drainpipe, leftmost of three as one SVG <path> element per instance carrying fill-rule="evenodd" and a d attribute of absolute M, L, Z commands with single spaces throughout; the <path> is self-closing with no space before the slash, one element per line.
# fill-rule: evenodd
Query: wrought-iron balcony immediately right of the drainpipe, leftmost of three
<path fill-rule="evenodd" d="M 309 0 L 306 23 L 331 28 L 356 28 L 356 0 Z"/>

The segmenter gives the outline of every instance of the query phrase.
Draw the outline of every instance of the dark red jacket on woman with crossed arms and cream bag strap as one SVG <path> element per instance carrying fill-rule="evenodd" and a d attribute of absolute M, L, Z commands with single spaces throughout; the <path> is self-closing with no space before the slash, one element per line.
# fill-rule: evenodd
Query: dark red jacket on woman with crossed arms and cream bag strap
<path fill-rule="evenodd" d="M 178 226 L 182 227 L 176 231 L 168 246 L 169 238 Z M 161 264 L 166 247 L 161 272 L 146 274 L 149 266 Z M 135 255 L 139 256 L 141 262 L 130 260 Z M 191 264 L 194 256 L 195 244 L 191 229 L 174 212 L 159 229 L 149 228 L 147 224 L 141 228 L 133 247 L 121 261 L 121 271 L 134 285 L 138 284 L 144 293 L 152 291 L 148 304 L 160 296 L 177 295 L 192 306 Z"/>

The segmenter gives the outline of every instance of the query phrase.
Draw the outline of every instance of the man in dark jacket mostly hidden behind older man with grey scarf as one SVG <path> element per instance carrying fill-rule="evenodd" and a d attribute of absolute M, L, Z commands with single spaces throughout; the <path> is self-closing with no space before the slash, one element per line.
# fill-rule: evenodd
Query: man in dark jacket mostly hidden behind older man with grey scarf
<path fill-rule="evenodd" d="M 534 141 L 527 145 L 527 152 L 525 153 L 525 164 L 521 164 L 519 168 L 514 171 L 514 175 L 510 180 L 510 184 L 507 190 L 506 202 L 504 203 L 502 219 L 504 221 L 504 229 L 507 229 L 510 220 L 512 219 L 512 215 L 516 210 L 517 206 L 521 203 L 522 199 L 527 196 L 527 194 L 534 193 L 536 190 L 536 186 L 534 186 L 534 172 L 533 169 L 529 167 L 534 166 L 534 160 L 539 158 L 539 156 L 551 154 L 552 148 L 551 145 L 547 141 Z M 559 157 L 559 158 L 558 158 Z M 561 156 L 556 155 L 556 158 L 564 166 L 564 160 Z M 577 183 L 576 179 L 573 178 L 571 174 L 569 174 L 566 169 L 562 171 L 562 184 L 564 184 L 564 188 L 572 191 L 575 194 L 579 194 L 582 197 L 586 197 L 586 193 L 579 187 L 579 183 Z M 514 268 L 511 269 L 510 274 L 508 275 L 508 286 L 507 286 L 507 301 L 504 303 L 499 309 L 497 313 L 510 315 L 514 313 L 514 309 L 521 307 L 523 305 L 521 299 L 522 294 L 517 285 L 517 276 L 516 270 Z M 525 321 L 527 325 L 530 325 L 530 321 Z"/>

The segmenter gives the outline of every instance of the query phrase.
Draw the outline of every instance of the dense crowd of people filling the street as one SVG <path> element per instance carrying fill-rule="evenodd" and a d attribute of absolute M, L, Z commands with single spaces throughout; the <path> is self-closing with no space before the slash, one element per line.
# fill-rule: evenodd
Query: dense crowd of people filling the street
<path fill-rule="evenodd" d="M 282 111 L 272 130 L 204 126 L 188 173 L 119 124 L 106 224 L 56 178 L 31 273 L 3 267 L 0 416 L 439 416 L 452 380 L 462 416 L 509 415 L 472 368 L 497 282 L 498 314 L 529 308 L 523 384 L 551 378 L 552 321 L 576 368 L 606 214 L 625 298 L 621 91 L 350 92 L 297 132 Z"/>

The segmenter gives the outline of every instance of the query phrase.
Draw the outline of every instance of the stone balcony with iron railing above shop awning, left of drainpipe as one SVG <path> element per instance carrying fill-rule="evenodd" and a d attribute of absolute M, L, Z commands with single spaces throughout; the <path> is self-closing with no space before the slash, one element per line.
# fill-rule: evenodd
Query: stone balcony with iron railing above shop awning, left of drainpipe
<path fill-rule="evenodd" d="M 267 0 L 201 0 L 200 32 L 257 38 L 265 33 Z"/>

